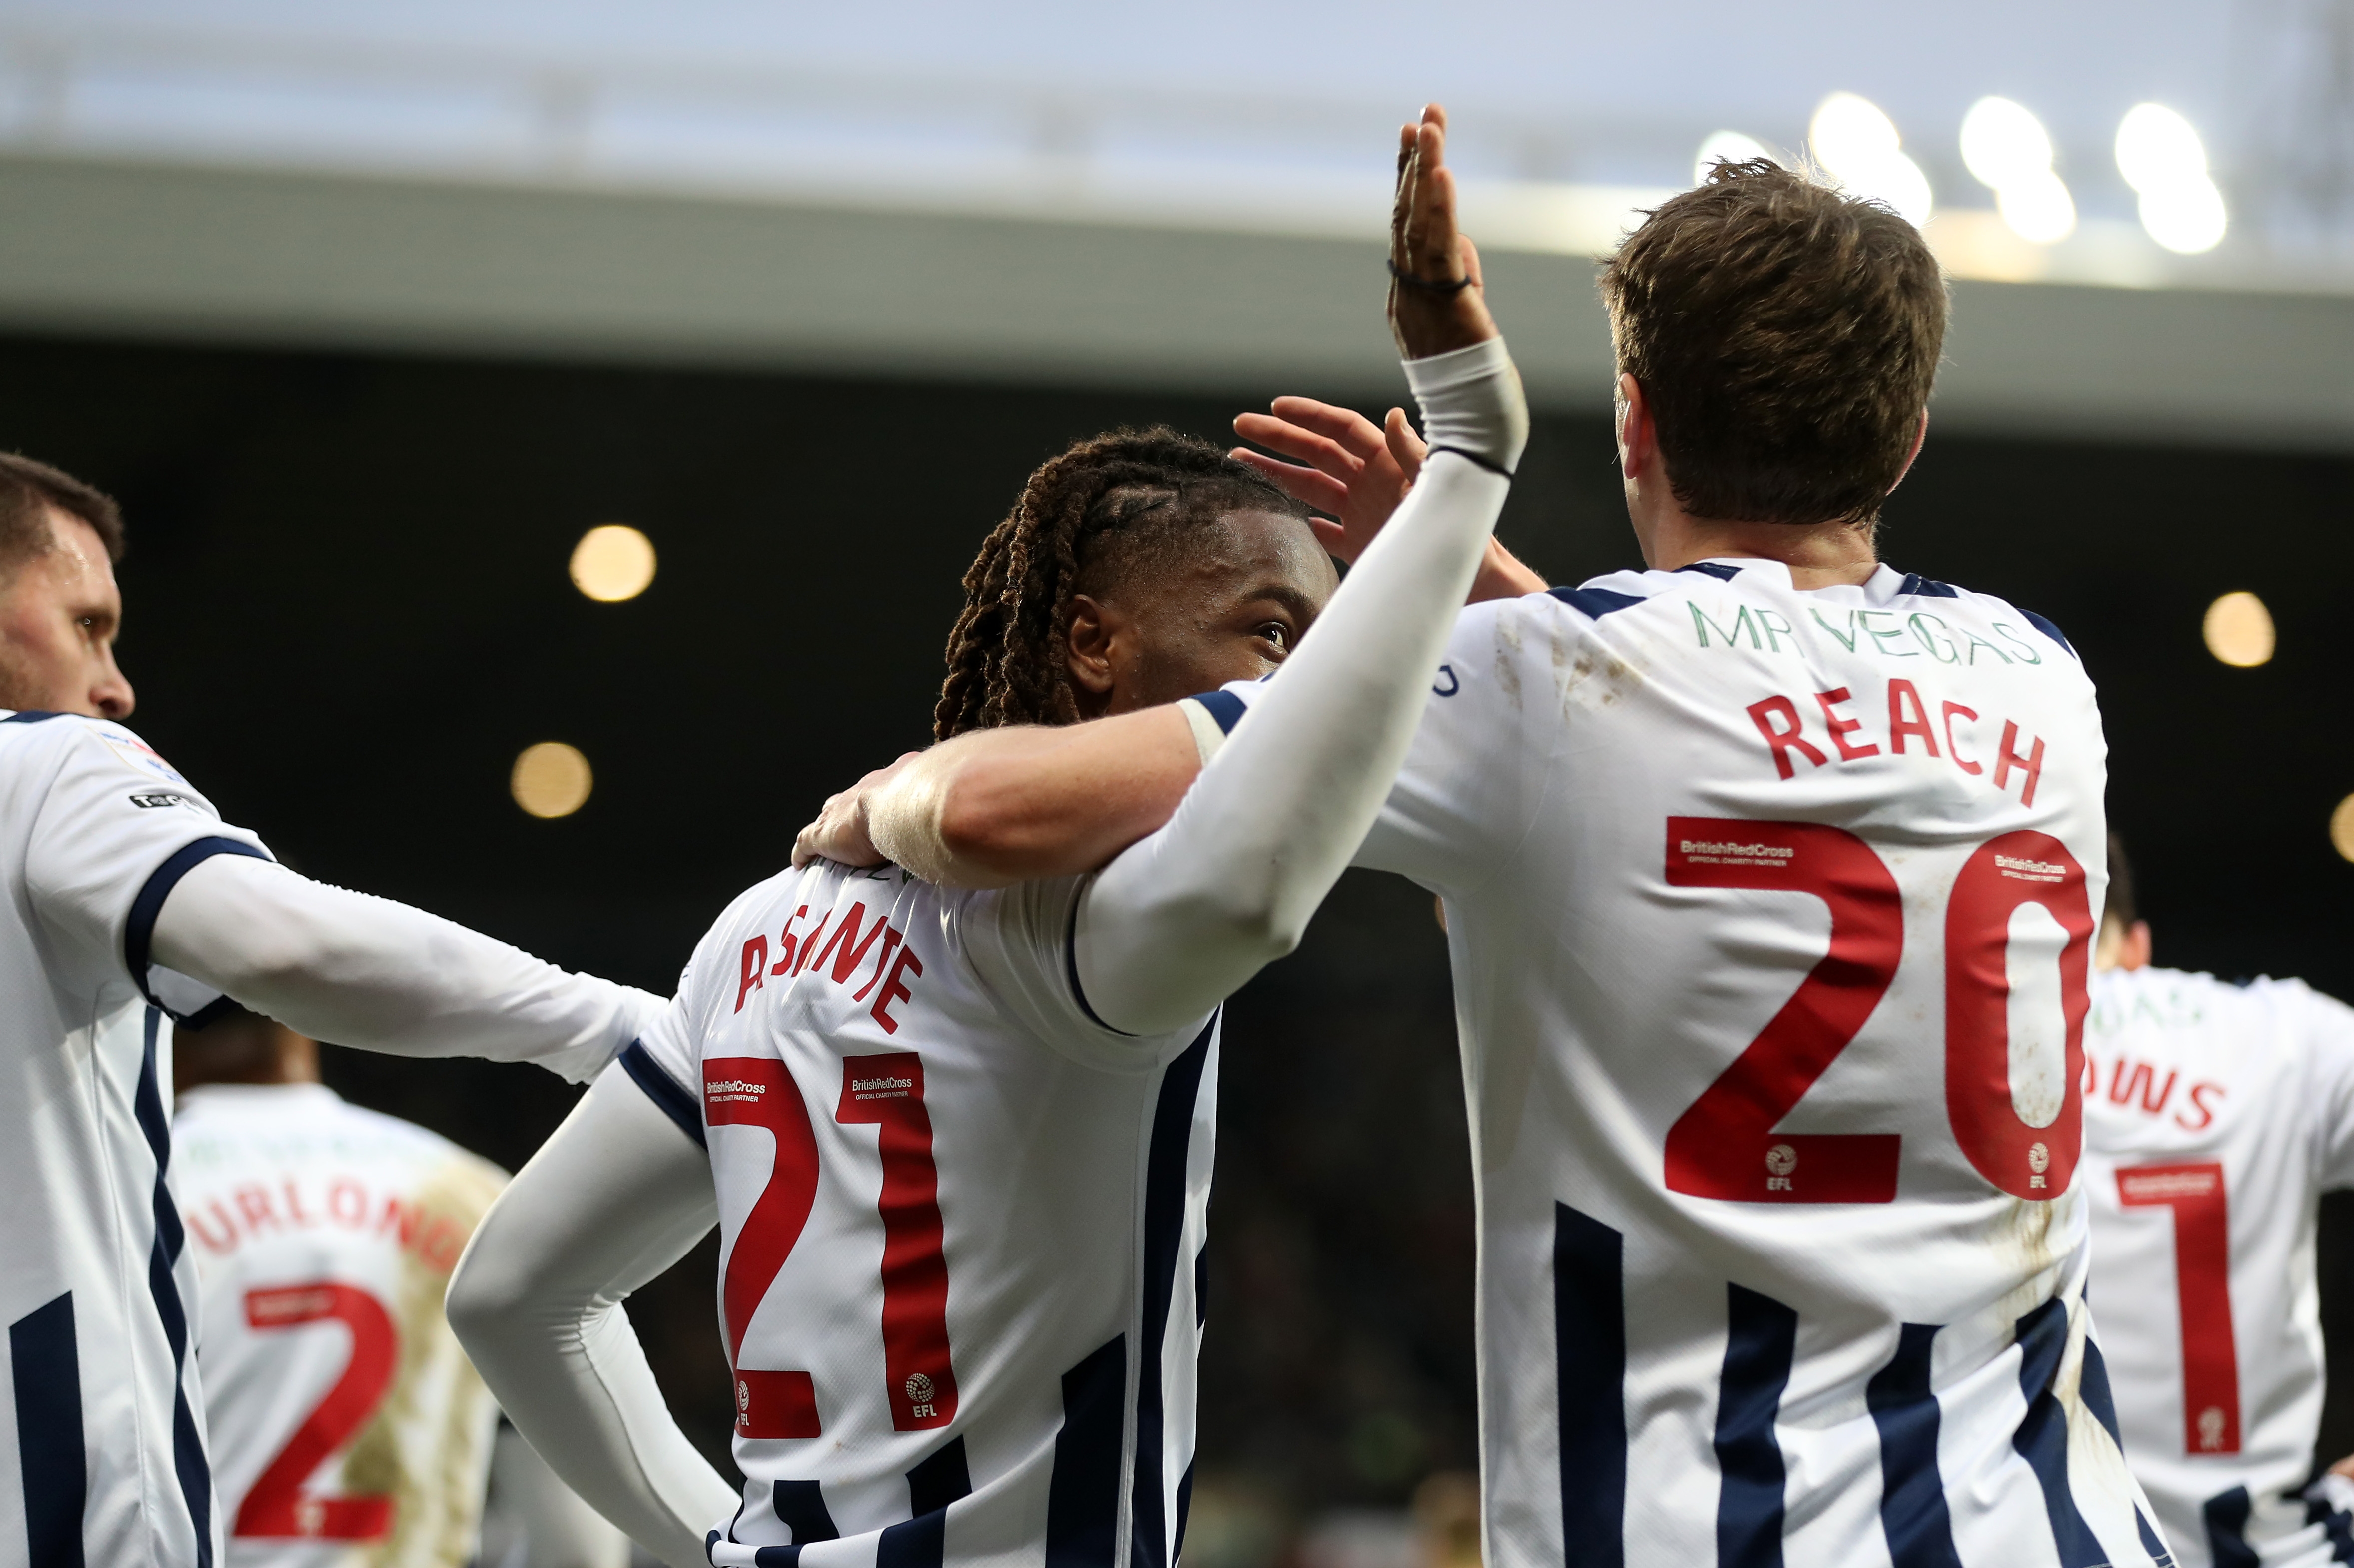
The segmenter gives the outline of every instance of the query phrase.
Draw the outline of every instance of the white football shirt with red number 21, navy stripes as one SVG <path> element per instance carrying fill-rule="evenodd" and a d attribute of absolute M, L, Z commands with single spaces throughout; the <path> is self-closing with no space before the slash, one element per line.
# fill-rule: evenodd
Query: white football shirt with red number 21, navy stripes
<path fill-rule="evenodd" d="M 746 1483 L 713 1563 L 1177 1561 L 1217 1016 L 1090 1018 L 1076 896 L 786 872 L 621 1053 L 718 1187 Z"/>

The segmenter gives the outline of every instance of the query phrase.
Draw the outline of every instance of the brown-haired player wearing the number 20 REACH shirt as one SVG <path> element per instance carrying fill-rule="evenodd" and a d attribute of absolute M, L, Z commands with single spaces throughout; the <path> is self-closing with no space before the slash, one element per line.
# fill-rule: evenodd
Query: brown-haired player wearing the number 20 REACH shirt
<path fill-rule="evenodd" d="M 1467 609 L 1356 851 L 1448 914 L 1485 1561 L 2166 1563 L 2083 1300 L 2093 686 L 2050 623 L 1876 550 L 1937 263 L 1886 207 L 1718 165 L 1603 296 L 1648 571 Z M 1358 527 L 1427 482 L 1323 404 L 1241 428 Z M 967 736 L 805 844 L 1083 870 L 1269 743 L 1288 679 L 1043 755 Z"/>

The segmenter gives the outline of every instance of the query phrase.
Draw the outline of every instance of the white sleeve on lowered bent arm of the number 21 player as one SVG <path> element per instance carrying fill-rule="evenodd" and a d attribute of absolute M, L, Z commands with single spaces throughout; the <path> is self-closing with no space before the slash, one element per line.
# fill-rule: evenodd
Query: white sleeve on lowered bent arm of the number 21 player
<path fill-rule="evenodd" d="M 506 1418 L 588 1505 L 704 1563 L 737 1490 L 694 1450 L 621 1309 L 718 1222 L 711 1161 L 612 1067 L 508 1182 L 450 1276 L 450 1326 Z"/>

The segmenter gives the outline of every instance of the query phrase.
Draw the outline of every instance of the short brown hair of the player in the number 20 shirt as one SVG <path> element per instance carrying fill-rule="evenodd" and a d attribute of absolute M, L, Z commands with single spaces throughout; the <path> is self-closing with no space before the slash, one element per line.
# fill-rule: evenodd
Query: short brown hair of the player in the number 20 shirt
<path fill-rule="evenodd" d="M 1878 517 L 1944 346 L 1919 228 L 1763 158 L 1721 162 L 1627 235 L 1601 289 L 1685 512 Z"/>

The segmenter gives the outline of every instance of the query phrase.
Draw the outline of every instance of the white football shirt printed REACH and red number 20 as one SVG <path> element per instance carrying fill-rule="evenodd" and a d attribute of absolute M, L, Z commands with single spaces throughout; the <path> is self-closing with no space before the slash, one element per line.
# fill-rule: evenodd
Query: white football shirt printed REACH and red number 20
<path fill-rule="evenodd" d="M 1492 1568 L 2163 1556 L 2083 1307 L 2102 780 L 2050 625 L 1886 567 L 1464 611 L 1358 863 L 1448 910 Z"/>

